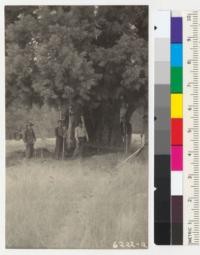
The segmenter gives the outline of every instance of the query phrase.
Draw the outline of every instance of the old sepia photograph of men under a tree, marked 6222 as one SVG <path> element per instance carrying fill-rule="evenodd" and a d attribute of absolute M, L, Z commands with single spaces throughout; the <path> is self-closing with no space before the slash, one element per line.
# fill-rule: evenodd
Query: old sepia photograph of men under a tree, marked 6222
<path fill-rule="evenodd" d="M 6 249 L 147 249 L 148 6 L 4 13 Z"/>

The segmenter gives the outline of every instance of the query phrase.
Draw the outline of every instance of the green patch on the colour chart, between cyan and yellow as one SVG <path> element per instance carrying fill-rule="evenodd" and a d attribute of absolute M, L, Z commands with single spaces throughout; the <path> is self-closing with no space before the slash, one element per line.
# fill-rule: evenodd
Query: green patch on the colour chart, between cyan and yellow
<path fill-rule="evenodd" d="M 183 68 L 171 68 L 171 93 L 182 93 L 183 91 Z"/>

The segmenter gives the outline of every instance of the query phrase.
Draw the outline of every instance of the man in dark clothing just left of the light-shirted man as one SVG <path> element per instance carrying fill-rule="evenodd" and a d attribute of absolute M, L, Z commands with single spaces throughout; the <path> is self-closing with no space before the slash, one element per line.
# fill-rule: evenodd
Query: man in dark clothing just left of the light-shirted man
<path fill-rule="evenodd" d="M 63 136 L 64 136 L 64 129 L 62 125 L 62 120 L 58 121 L 58 127 L 55 129 L 55 136 L 56 136 L 56 148 L 55 148 L 55 156 L 56 159 L 62 159 L 63 156 Z"/>

